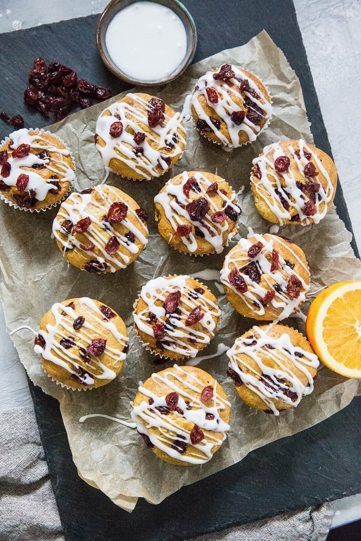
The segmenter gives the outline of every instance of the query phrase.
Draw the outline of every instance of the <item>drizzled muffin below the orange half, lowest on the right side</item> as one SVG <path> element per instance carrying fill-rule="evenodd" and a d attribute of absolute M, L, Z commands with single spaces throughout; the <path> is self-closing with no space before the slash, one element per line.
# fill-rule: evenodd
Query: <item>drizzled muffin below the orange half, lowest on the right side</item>
<path fill-rule="evenodd" d="M 249 406 L 266 413 L 296 407 L 313 391 L 319 361 L 298 331 L 284 325 L 254 326 L 228 349 L 227 375 Z"/>

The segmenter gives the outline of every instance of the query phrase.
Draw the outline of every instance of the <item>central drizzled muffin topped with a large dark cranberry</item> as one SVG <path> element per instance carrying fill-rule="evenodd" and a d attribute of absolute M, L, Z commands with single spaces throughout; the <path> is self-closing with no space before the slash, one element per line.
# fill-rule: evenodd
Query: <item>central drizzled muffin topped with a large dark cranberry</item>
<path fill-rule="evenodd" d="M 155 196 L 155 221 L 173 248 L 188 254 L 220 254 L 237 234 L 237 196 L 220 176 L 183 171 Z"/>

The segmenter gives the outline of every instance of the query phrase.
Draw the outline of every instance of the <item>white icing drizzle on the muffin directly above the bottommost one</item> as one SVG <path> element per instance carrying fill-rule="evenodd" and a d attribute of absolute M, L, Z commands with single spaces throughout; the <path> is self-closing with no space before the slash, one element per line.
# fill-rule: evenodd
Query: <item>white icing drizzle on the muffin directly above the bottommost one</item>
<path fill-rule="evenodd" d="M 189 279 L 189 276 L 180 275 L 169 279 L 160 276 L 154 280 L 149 280 L 142 287 L 140 293 L 141 299 L 146 303 L 147 307 L 139 314 L 136 314 L 134 311 L 134 322 L 141 332 L 154 338 L 153 328 L 149 325 L 149 312 L 152 312 L 157 320 L 165 321 L 167 319 L 168 324 L 167 322 L 165 323 L 166 333 L 163 338 L 164 341 L 162 341 L 163 349 L 180 353 L 185 357 L 195 357 L 199 349 L 193 347 L 188 342 L 188 339 L 192 338 L 195 342 L 204 346 L 209 344 L 211 338 L 208 333 L 211 337 L 214 337 L 216 328 L 216 322 L 213 317 L 219 318 L 221 311 L 214 302 L 206 299 L 203 294 L 197 293 L 192 287 L 189 287 L 187 285 L 187 279 Z M 176 291 L 181 292 L 181 300 L 178 306 L 180 314 L 167 314 L 166 309 L 163 308 L 163 302 L 169 293 Z M 157 301 L 161 301 L 160 306 L 155 304 Z M 185 306 L 181 306 L 181 304 Z M 187 316 L 193 308 L 199 305 L 202 308 L 204 316 L 198 323 L 204 327 L 206 332 L 196 331 L 194 326 L 185 325 Z"/>

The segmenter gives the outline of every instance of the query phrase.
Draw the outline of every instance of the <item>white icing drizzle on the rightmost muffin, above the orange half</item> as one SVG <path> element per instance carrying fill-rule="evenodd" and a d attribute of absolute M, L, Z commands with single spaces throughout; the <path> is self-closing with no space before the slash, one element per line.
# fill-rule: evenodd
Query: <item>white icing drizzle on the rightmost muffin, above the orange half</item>
<path fill-rule="evenodd" d="M 301 176 L 303 176 L 303 179 L 305 179 L 306 182 L 316 182 L 317 184 L 320 184 L 319 192 L 318 194 L 316 193 L 316 202 L 314 203 L 316 206 L 316 214 L 313 216 L 306 216 L 303 213 L 305 203 L 307 200 L 309 200 L 309 197 L 307 197 L 307 195 L 297 188 L 296 177 L 293 174 L 291 165 L 284 173 L 279 173 L 279 171 L 277 171 L 274 167 L 275 160 L 279 156 L 285 155 L 285 151 L 280 146 L 280 143 L 273 143 L 265 147 L 261 156 L 255 158 L 252 162 L 254 166 L 257 165 L 259 167 L 261 178 L 258 179 L 252 174 L 251 183 L 253 184 L 257 194 L 267 204 L 268 208 L 270 208 L 273 214 L 277 216 L 280 225 L 286 223 L 287 220 L 291 220 L 291 210 L 293 209 L 296 209 L 296 216 L 298 215 L 300 219 L 300 222 L 295 221 L 294 223 L 300 223 L 301 225 L 307 225 L 312 222 L 319 223 L 327 213 L 327 203 L 329 203 L 333 197 L 334 190 L 330 175 L 327 173 L 319 157 L 312 151 L 312 149 L 305 143 L 303 139 L 300 139 L 298 144 L 300 159 L 298 159 L 297 155 L 295 154 L 295 150 L 297 151 L 297 149 L 294 149 L 291 144 L 288 146 L 288 150 L 292 154 L 293 160 L 296 161 L 299 173 Z M 271 153 L 272 151 L 272 155 L 267 157 L 267 154 Z M 318 176 L 305 176 L 304 168 L 310 160 L 307 160 L 307 158 L 304 156 L 304 151 L 311 154 L 310 160 L 312 159 L 316 165 L 316 169 L 324 176 L 326 180 L 325 188 L 322 186 Z M 286 190 L 286 193 L 284 192 L 283 188 Z M 278 194 L 275 193 L 275 190 L 278 190 L 278 192 L 281 193 L 289 204 L 290 207 L 288 210 L 282 206 L 280 198 Z M 290 197 L 288 197 L 287 194 Z M 323 204 L 323 210 L 321 210 L 321 204 Z"/>

